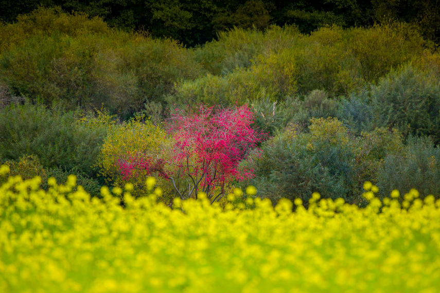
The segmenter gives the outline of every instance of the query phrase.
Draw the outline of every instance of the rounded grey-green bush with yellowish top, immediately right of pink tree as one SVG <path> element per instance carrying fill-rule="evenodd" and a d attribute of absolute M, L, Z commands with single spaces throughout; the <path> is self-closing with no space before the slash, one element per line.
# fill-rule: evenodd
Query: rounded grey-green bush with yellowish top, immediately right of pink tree
<path fill-rule="evenodd" d="M 251 156 L 253 183 L 258 195 L 276 202 L 281 196 L 308 202 L 312 192 L 329 198 L 353 200 L 352 143 L 347 129 L 336 119 L 312 119 L 310 133 L 289 127 Z"/>

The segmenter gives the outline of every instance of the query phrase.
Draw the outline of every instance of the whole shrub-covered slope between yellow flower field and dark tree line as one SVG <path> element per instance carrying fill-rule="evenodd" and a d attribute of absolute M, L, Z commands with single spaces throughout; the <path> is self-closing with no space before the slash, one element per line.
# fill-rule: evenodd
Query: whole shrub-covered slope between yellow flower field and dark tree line
<path fill-rule="evenodd" d="M 40 7 L 0 36 L 13 174 L 75 173 L 96 196 L 145 195 L 154 175 L 167 204 L 254 185 L 273 204 L 317 191 L 362 206 L 366 180 L 440 196 L 440 56 L 411 24 L 235 27 L 187 48 Z"/>

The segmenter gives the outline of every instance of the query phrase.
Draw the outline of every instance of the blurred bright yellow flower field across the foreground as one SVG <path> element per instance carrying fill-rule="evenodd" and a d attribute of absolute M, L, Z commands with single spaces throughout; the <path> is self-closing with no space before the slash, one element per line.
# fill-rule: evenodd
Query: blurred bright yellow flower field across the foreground
<path fill-rule="evenodd" d="M 48 192 L 40 180 L 0 187 L 0 292 L 440 290 L 440 200 L 415 190 L 382 203 L 365 184 L 366 208 L 314 194 L 307 210 L 233 195 L 223 208 L 202 195 L 171 209 L 157 190 L 98 199 L 73 192 L 74 176 L 50 178 Z"/>

